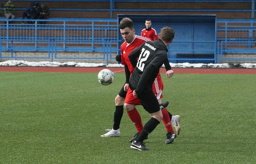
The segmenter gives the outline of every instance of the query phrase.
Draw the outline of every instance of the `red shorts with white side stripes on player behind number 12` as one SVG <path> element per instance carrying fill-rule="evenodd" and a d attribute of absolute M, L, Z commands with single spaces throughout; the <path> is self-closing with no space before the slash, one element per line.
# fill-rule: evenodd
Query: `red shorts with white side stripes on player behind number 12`
<path fill-rule="evenodd" d="M 156 77 L 155 81 L 153 82 L 153 92 L 158 99 L 162 98 L 162 92 L 164 89 L 164 84 L 163 81 L 160 77 Z M 127 95 L 125 97 L 125 101 L 124 104 L 133 104 L 133 105 L 141 105 L 140 100 L 137 97 L 134 97 L 132 94 L 133 90 L 131 90 L 130 88 L 128 89 Z"/>

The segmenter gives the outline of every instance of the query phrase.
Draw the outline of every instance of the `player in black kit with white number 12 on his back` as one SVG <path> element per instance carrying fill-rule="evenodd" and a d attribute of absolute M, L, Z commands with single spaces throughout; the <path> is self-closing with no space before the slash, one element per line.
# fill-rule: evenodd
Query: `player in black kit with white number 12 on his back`
<path fill-rule="evenodd" d="M 139 98 L 141 105 L 151 116 L 140 135 L 132 141 L 133 149 L 149 150 L 143 140 L 163 118 L 152 84 L 163 63 L 168 61 L 167 46 L 172 43 L 173 38 L 174 30 L 164 27 L 161 29 L 159 39 L 143 43 L 129 54 L 132 66 L 135 67 L 129 79 L 129 87 L 133 90 L 133 96 Z M 139 57 L 138 60 L 137 57 Z"/>

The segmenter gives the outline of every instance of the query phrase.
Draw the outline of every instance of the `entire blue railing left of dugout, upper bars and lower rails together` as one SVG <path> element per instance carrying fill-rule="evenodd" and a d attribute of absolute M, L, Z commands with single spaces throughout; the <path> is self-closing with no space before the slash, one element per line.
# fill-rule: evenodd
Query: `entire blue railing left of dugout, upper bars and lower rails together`
<path fill-rule="evenodd" d="M 36 19 L 0 19 L 0 21 L 7 21 L 6 24 L 0 24 L 1 52 L 11 51 L 11 56 L 3 57 L 1 55 L 2 58 L 50 59 L 50 53 L 48 57 L 17 57 L 13 56 L 13 52 L 52 51 L 51 61 L 54 59 L 107 59 L 108 63 L 108 53 L 106 55 L 105 51 L 109 49 L 109 46 L 110 52 L 117 51 L 116 44 L 113 44 L 116 47 L 107 44 L 109 40 L 113 43 L 117 41 L 117 27 L 116 25 L 110 25 L 111 22 L 116 24 L 116 19 L 44 20 L 54 24 L 38 24 L 38 21 L 42 20 Z M 11 21 L 33 21 L 34 24 L 12 24 Z M 79 22 L 79 24 L 76 22 Z M 15 46 L 13 46 L 13 43 L 15 43 Z M 29 46 L 27 43 L 29 43 Z M 31 44 L 34 44 L 34 46 L 31 46 Z M 38 46 L 38 44 L 41 44 L 41 46 Z M 103 52 L 103 57 L 60 57 L 57 55 L 57 51 Z"/>

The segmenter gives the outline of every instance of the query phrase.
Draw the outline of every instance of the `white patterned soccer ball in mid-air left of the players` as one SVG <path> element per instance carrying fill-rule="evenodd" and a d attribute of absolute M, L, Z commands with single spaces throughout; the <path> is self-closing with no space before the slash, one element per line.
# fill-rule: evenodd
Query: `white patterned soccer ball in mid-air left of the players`
<path fill-rule="evenodd" d="M 109 69 L 102 69 L 98 74 L 98 81 L 102 85 L 109 85 L 114 81 L 114 73 Z"/>

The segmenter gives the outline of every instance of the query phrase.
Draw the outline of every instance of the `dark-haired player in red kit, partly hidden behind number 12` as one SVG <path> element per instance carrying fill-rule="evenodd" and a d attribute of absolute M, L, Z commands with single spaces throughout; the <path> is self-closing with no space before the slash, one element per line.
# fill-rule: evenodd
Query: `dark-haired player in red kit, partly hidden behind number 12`
<path fill-rule="evenodd" d="M 128 65 L 128 68 L 130 70 L 130 73 L 133 72 L 134 68 L 127 56 L 127 51 L 129 52 L 128 54 L 130 54 L 132 52 L 133 49 L 135 49 L 135 47 L 137 48 L 138 46 L 140 46 L 140 42 L 137 42 L 136 39 L 137 38 L 141 38 L 141 39 L 144 39 L 143 37 L 139 37 L 137 35 L 129 38 L 129 32 L 130 33 L 133 33 L 133 35 L 135 34 L 135 30 L 133 29 L 133 24 L 132 22 L 130 21 L 127 21 L 123 24 L 120 24 L 119 25 L 119 28 L 120 28 L 120 32 L 124 38 L 125 41 L 129 40 L 129 39 L 132 39 L 132 42 L 129 44 L 127 42 L 124 42 L 120 48 L 121 50 L 121 59 L 122 59 L 122 64 L 123 65 Z M 146 39 L 145 39 L 146 40 Z M 149 41 L 146 40 L 146 41 Z M 135 46 L 136 45 L 136 46 Z M 172 77 L 173 75 L 173 71 L 171 70 L 171 66 L 169 63 L 165 63 L 165 66 L 168 67 L 169 65 L 169 68 L 167 68 L 167 75 L 168 77 Z M 129 79 L 126 79 L 126 82 L 128 81 Z M 158 83 L 157 83 L 158 82 Z M 161 76 L 160 74 L 158 73 L 158 79 L 156 78 L 155 79 L 155 82 L 153 83 L 153 88 L 155 90 L 155 95 L 158 99 L 158 102 L 159 104 L 162 103 L 162 100 L 161 100 L 161 97 L 162 96 L 162 89 L 163 89 L 163 82 L 162 82 L 162 79 L 161 79 Z M 126 83 L 124 85 L 124 90 L 125 91 L 128 91 L 129 89 L 129 84 Z M 127 114 L 129 115 L 129 117 L 131 118 L 132 122 L 134 123 L 134 125 L 136 126 L 136 129 L 137 129 L 137 133 L 135 134 L 134 138 L 132 138 L 130 140 L 130 142 L 132 142 L 139 134 L 140 132 L 142 131 L 143 129 L 143 125 L 141 123 L 141 118 L 139 117 L 139 114 L 138 114 L 138 111 L 136 110 L 135 108 L 135 105 L 140 105 L 140 101 L 137 97 L 134 97 L 132 95 L 132 91 L 131 89 L 129 89 L 127 95 L 126 95 L 126 98 L 125 98 L 125 103 L 124 103 L 124 107 L 127 111 Z M 162 113 L 163 113 L 163 122 L 164 122 L 164 125 L 166 127 L 166 131 L 167 131 L 167 139 L 166 139 L 166 144 L 170 144 L 173 142 L 174 140 L 174 137 L 175 137 L 175 132 L 173 131 L 172 129 L 172 124 L 171 124 L 171 120 L 170 120 L 170 117 L 168 115 L 168 111 L 167 109 L 165 108 L 164 110 L 162 110 Z M 173 136 L 173 137 L 172 137 Z"/>

